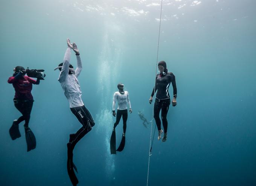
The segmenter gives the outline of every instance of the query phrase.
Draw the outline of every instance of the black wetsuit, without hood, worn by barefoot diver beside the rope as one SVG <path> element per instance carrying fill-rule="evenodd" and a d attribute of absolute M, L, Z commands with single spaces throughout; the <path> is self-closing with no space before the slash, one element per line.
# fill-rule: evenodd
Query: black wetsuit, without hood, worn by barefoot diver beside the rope
<path fill-rule="evenodd" d="M 151 96 L 157 91 L 155 104 L 154 104 L 154 118 L 157 124 L 157 129 L 161 130 L 161 120 L 159 118 L 160 110 L 162 109 L 161 116 L 163 122 L 164 132 L 167 133 L 168 121 L 166 119 L 171 99 L 169 95 L 169 86 L 172 83 L 173 94 L 177 94 L 175 76 L 171 72 L 167 72 L 165 76 L 163 74 L 157 74 L 155 80 L 155 87 L 153 88 Z M 155 90 L 155 92 L 154 92 Z"/>

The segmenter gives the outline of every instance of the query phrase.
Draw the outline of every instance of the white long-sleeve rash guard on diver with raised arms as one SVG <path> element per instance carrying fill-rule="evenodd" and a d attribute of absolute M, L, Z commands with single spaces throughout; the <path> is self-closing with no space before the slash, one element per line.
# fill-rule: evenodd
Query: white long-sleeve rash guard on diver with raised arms
<path fill-rule="evenodd" d="M 67 48 L 58 81 L 61 83 L 64 94 L 69 101 L 69 107 L 73 108 L 84 105 L 81 98 L 82 91 L 77 79 L 82 71 L 82 62 L 80 56 L 76 56 L 77 67 L 75 74 L 69 74 L 70 54 L 71 48 Z"/>

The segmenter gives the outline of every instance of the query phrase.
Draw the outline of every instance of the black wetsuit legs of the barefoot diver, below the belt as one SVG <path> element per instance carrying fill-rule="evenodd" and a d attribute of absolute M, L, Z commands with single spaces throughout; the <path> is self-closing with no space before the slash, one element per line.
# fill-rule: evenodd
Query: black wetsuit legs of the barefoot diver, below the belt
<path fill-rule="evenodd" d="M 170 99 L 160 100 L 160 101 L 158 101 L 158 99 L 155 99 L 155 104 L 154 104 L 155 123 L 157 124 L 157 129 L 161 130 L 161 120 L 159 118 L 159 113 L 160 113 L 160 110 L 162 109 L 161 116 L 162 116 L 162 122 L 163 122 L 163 129 L 165 133 L 167 133 L 168 121 L 166 119 L 166 116 L 167 116 L 170 104 L 171 104 Z"/>

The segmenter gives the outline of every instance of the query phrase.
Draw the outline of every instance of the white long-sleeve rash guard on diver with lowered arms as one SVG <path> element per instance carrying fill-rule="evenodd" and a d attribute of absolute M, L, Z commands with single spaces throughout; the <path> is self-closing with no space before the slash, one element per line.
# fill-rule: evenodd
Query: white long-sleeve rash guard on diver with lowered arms
<path fill-rule="evenodd" d="M 113 110 L 116 109 L 116 101 L 118 102 L 118 108 L 117 110 L 125 110 L 127 109 L 127 103 L 129 106 L 129 109 L 131 109 L 131 102 L 129 99 L 129 92 L 124 91 L 124 94 L 121 94 L 119 91 L 114 93 L 113 97 Z"/>

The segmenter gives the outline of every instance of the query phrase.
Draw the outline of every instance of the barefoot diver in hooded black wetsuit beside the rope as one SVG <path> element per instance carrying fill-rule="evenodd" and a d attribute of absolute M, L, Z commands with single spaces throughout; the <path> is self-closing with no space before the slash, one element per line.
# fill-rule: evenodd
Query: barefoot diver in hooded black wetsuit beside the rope
<path fill-rule="evenodd" d="M 168 72 L 168 69 L 166 68 L 166 62 L 160 61 L 158 63 L 158 69 L 160 71 L 159 74 L 157 74 L 155 78 L 155 87 L 153 88 L 151 97 L 149 98 L 149 103 L 152 103 L 152 97 L 154 93 L 157 91 L 157 94 L 155 96 L 155 104 L 154 104 L 154 118 L 158 129 L 158 140 L 161 139 L 161 133 L 163 133 L 163 130 L 161 129 L 161 120 L 159 118 L 160 110 L 161 116 L 162 116 L 162 122 L 163 122 L 163 129 L 164 129 L 164 136 L 162 141 L 165 142 L 167 139 L 167 127 L 168 127 L 168 121 L 166 119 L 169 105 L 171 104 L 171 99 L 169 95 L 169 86 L 172 83 L 173 87 L 173 98 L 172 98 L 172 106 L 176 106 L 176 98 L 177 98 L 177 87 L 175 82 L 175 76 L 173 73 Z"/>

